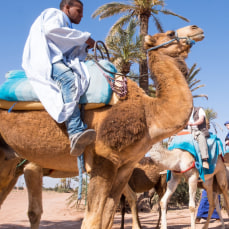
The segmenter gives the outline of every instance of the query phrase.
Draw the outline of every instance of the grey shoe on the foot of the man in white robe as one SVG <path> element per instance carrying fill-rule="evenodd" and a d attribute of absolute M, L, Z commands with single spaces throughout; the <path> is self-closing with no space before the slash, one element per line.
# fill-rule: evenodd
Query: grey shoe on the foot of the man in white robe
<path fill-rule="evenodd" d="M 79 133 L 74 134 L 71 137 L 71 151 L 72 156 L 80 156 L 86 146 L 90 145 L 95 141 L 96 132 L 93 129 L 88 129 Z"/>

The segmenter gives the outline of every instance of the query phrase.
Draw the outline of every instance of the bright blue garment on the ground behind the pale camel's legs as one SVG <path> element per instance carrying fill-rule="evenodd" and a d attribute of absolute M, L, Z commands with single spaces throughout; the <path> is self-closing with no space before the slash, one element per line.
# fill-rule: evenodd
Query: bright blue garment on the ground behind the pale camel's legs
<path fill-rule="evenodd" d="M 220 195 L 219 195 L 219 201 L 220 201 Z M 203 190 L 196 218 L 207 218 L 208 209 L 209 209 L 209 202 L 207 198 L 207 192 L 206 190 Z M 214 209 L 211 219 L 219 219 L 219 215 L 216 209 Z"/>

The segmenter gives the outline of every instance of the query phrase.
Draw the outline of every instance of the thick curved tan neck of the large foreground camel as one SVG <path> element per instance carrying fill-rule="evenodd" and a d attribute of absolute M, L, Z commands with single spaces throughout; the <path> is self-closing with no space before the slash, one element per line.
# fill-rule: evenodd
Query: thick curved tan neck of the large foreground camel
<path fill-rule="evenodd" d="M 167 138 L 186 125 L 192 109 L 192 94 L 176 58 L 153 51 L 149 53 L 148 65 L 157 88 L 153 102 L 155 117 L 149 120 L 151 137 L 156 132 Z M 150 112 L 152 106 L 146 105 L 146 109 Z"/>

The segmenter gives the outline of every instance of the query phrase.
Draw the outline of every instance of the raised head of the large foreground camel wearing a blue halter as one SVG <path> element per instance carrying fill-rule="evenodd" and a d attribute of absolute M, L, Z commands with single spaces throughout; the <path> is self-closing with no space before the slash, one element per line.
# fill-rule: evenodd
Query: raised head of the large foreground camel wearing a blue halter
<path fill-rule="evenodd" d="M 204 32 L 196 25 L 145 36 L 144 47 L 148 51 L 158 51 L 171 57 L 186 58 L 195 42 L 204 39 Z"/>

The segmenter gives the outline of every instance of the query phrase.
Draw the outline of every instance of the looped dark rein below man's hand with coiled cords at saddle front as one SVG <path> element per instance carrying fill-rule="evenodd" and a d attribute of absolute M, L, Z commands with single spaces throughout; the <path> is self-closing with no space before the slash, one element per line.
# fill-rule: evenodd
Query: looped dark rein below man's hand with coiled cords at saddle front
<path fill-rule="evenodd" d="M 101 43 L 102 46 L 104 47 L 105 51 L 106 51 L 106 55 L 108 60 L 110 61 L 110 56 L 108 53 L 108 50 L 105 46 L 105 44 L 102 41 L 96 41 L 95 45 L 94 45 L 94 57 L 93 60 L 95 61 L 95 63 L 98 65 L 98 67 L 100 68 L 100 70 L 102 70 L 104 77 L 107 79 L 107 82 L 109 83 L 112 91 L 114 91 L 119 97 L 124 97 L 127 94 L 127 79 L 126 79 L 126 75 L 122 74 L 122 73 L 116 73 L 116 72 L 111 72 L 109 70 L 107 70 L 106 68 L 104 68 L 97 59 L 97 54 L 96 54 L 96 50 L 98 49 L 102 58 L 104 59 L 104 54 L 102 53 L 101 49 L 98 47 L 98 43 Z M 109 75 L 107 75 L 105 72 L 112 74 L 112 75 L 119 75 L 122 79 L 117 79 L 117 78 L 113 78 Z"/>

